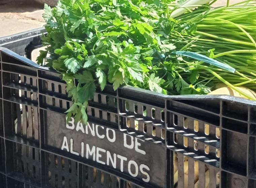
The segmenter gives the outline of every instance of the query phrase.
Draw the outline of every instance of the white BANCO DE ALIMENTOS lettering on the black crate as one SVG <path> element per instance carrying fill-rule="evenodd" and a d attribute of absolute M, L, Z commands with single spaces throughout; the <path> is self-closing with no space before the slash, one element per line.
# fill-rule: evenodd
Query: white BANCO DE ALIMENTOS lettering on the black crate
<path fill-rule="evenodd" d="M 116 141 L 116 131 L 114 129 L 106 128 L 100 125 L 94 125 L 93 123 L 90 125 L 87 123 L 87 126 L 83 126 L 81 122 L 78 122 L 76 125 L 74 123 L 74 118 L 71 118 L 71 121 L 69 121 L 68 124 L 66 124 L 67 129 L 81 131 L 85 134 L 90 134 L 92 136 L 97 136 L 99 139 L 107 138 L 107 140 L 110 143 L 113 143 Z M 102 129 L 105 131 L 104 134 L 99 134 L 99 129 Z M 129 144 L 127 143 L 127 140 L 129 139 Z M 143 155 L 146 155 L 146 151 L 139 148 L 141 146 L 141 143 L 144 142 L 144 140 L 141 140 L 139 138 L 133 137 L 131 135 L 123 134 L 123 141 L 124 141 L 124 147 L 128 149 L 134 149 L 136 152 L 141 153 Z M 73 150 L 74 146 L 74 140 L 73 138 L 70 138 L 70 140 L 67 139 L 66 136 L 63 137 L 63 142 L 61 149 L 66 150 L 72 154 L 75 155 L 81 155 L 82 157 L 85 157 L 86 159 L 92 159 L 93 161 L 96 161 L 99 164 L 111 166 L 114 169 L 120 169 L 121 172 L 124 172 L 124 163 L 128 163 L 128 173 L 132 177 L 137 177 L 139 173 L 142 174 L 143 178 L 142 180 L 145 182 L 150 181 L 149 171 L 150 168 L 145 164 L 138 164 L 134 160 L 128 160 L 125 156 L 122 156 L 117 153 L 110 153 L 110 151 L 96 147 L 94 145 L 90 146 L 88 143 L 85 144 L 84 142 L 81 142 L 79 146 L 81 146 L 81 152 L 78 153 L 77 151 Z M 105 159 L 105 160 L 104 160 Z"/>

